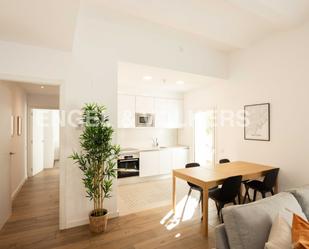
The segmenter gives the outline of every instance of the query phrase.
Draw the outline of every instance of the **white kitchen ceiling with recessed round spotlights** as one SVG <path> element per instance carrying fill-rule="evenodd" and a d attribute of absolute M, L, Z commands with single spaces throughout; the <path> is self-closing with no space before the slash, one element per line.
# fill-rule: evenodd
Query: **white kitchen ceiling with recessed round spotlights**
<path fill-rule="evenodd" d="M 151 76 L 151 80 L 145 80 Z M 183 81 L 183 84 L 177 84 Z M 163 91 L 184 93 L 212 84 L 223 82 L 218 78 L 203 75 L 184 73 L 170 69 L 150 67 L 132 63 L 121 62 L 118 64 L 118 91 L 126 92 L 128 89 L 136 92 Z"/>

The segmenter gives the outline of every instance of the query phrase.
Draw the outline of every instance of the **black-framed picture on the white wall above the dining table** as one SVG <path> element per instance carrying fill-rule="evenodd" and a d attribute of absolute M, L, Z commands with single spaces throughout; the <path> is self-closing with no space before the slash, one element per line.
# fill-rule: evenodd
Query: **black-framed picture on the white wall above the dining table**
<path fill-rule="evenodd" d="M 245 140 L 270 141 L 270 104 L 245 106 Z"/>

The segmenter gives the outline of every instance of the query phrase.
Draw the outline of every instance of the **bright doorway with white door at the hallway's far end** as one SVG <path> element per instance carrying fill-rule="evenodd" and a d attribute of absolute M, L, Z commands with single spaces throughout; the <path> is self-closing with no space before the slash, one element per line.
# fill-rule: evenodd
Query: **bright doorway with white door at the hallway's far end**
<path fill-rule="evenodd" d="M 59 110 L 31 109 L 31 176 L 57 166 L 59 161 Z"/>

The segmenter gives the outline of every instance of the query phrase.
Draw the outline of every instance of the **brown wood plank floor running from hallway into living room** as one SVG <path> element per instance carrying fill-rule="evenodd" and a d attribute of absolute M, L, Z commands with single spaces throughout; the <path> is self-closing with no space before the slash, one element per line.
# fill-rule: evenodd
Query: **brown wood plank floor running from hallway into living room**
<path fill-rule="evenodd" d="M 180 224 L 167 215 L 170 206 L 109 220 L 105 234 L 93 235 L 88 226 L 59 231 L 59 168 L 30 178 L 13 204 L 13 214 L 0 231 L 0 249 L 207 249 L 214 246 L 201 235 L 199 217 Z M 176 224 L 176 225 L 175 225 Z M 173 227 L 173 228 L 170 228 Z"/>

